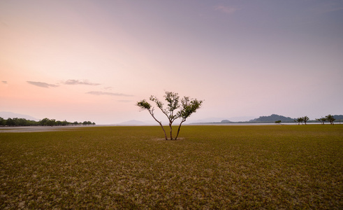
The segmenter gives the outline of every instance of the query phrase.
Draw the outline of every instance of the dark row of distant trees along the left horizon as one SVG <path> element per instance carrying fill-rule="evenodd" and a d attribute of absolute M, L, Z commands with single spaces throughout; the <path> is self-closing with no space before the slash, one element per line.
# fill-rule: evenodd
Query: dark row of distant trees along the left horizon
<path fill-rule="evenodd" d="M 0 117 L 0 126 L 66 126 L 66 125 L 95 125 L 91 121 L 78 122 L 74 123 L 68 122 L 66 120 L 54 120 L 49 118 L 44 118 L 43 120 L 34 121 L 27 120 L 25 118 L 8 118 L 7 120 Z"/>

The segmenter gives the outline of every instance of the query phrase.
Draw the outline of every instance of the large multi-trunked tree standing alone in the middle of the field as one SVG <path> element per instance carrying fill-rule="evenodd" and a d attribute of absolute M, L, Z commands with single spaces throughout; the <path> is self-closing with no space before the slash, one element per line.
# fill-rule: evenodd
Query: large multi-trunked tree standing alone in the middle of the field
<path fill-rule="evenodd" d="M 195 113 L 197 109 L 201 107 L 203 104 L 202 100 L 198 99 L 190 99 L 189 97 L 183 97 L 180 100 L 179 94 L 176 92 L 168 92 L 166 91 L 166 94 L 163 96 L 166 102 L 168 102 L 167 107 L 163 107 L 163 102 L 161 102 L 159 99 L 154 97 L 153 95 L 149 98 L 150 101 L 154 102 L 156 106 L 162 111 L 162 113 L 168 118 L 169 120 L 169 128 L 170 128 L 170 140 L 173 140 L 173 123 L 177 118 L 181 118 L 181 123 L 179 125 L 179 128 L 177 130 L 177 134 L 175 137 L 175 140 L 179 136 L 180 133 L 180 127 L 184 121 L 191 116 L 192 113 Z M 164 132 L 164 137 L 166 140 L 168 140 L 166 130 L 164 130 L 164 127 L 161 123 L 161 121 L 157 120 L 154 116 L 154 107 L 149 104 L 145 99 L 143 99 L 140 102 L 137 102 L 136 106 L 139 106 L 142 110 L 149 111 L 150 115 L 154 120 L 156 120 L 157 123 L 162 127 L 162 130 Z"/>

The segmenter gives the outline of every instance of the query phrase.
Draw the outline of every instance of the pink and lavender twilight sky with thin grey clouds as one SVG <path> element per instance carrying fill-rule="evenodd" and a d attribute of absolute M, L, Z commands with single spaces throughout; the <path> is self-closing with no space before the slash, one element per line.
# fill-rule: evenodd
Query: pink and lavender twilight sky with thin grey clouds
<path fill-rule="evenodd" d="M 343 1 L 0 0 L 0 111 L 145 121 L 165 91 L 189 122 L 343 114 Z"/>

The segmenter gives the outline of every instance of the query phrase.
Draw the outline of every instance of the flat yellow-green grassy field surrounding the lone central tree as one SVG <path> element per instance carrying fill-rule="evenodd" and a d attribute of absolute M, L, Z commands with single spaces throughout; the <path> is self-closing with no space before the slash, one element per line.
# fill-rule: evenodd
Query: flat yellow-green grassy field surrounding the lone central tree
<path fill-rule="evenodd" d="M 343 209 L 343 125 L 0 133 L 0 209 Z"/>

